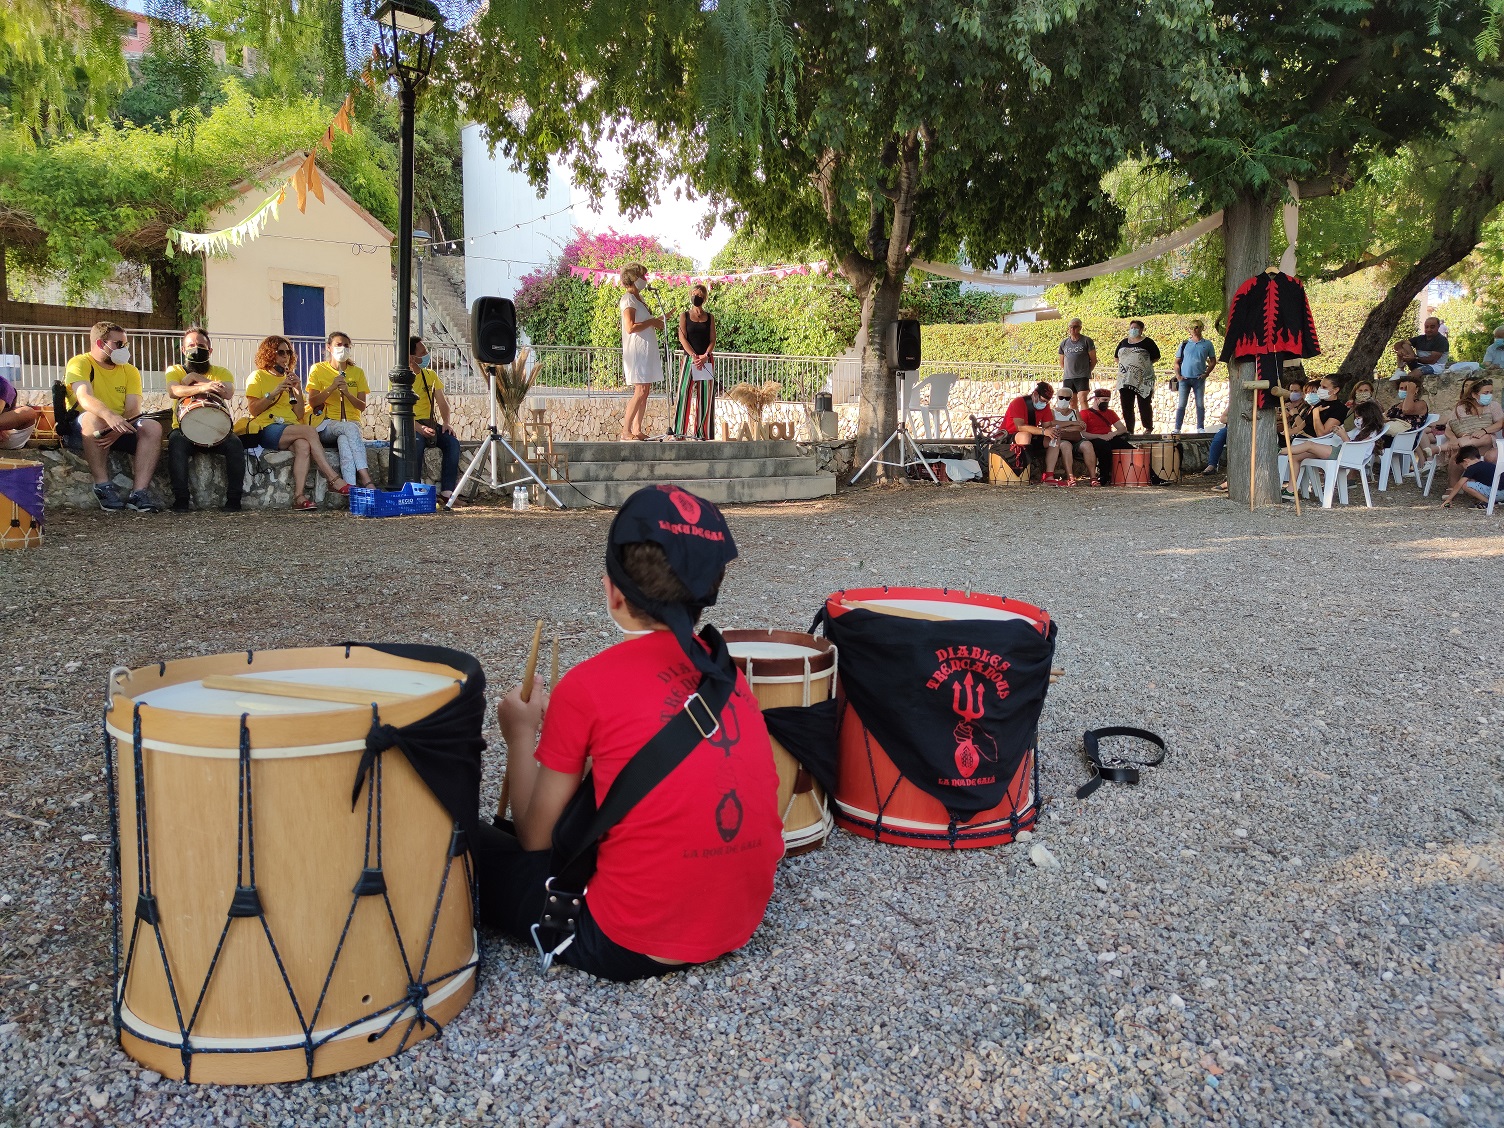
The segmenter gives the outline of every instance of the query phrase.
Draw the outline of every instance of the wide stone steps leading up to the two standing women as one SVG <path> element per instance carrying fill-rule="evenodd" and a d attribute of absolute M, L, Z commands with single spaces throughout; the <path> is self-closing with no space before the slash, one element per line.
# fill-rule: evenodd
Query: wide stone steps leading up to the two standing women
<path fill-rule="evenodd" d="M 621 505 L 644 486 L 674 483 L 717 505 L 808 501 L 836 492 L 797 442 L 556 442 L 570 481 L 553 492 L 570 508 Z"/>

